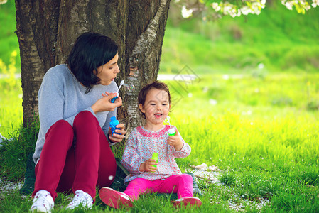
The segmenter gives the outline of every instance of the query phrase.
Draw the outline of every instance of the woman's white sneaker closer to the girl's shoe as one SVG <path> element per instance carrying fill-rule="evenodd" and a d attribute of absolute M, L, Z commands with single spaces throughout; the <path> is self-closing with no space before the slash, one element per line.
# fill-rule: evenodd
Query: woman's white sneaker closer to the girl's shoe
<path fill-rule="evenodd" d="M 75 191 L 75 197 L 72 202 L 67 205 L 66 209 L 75 209 L 77 207 L 83 207 L 85 209 L 91 209 L 93 205 L 93 199 L 91 195 L 87 194 L 87 192 L 83 192 L 82 190 Z"/>

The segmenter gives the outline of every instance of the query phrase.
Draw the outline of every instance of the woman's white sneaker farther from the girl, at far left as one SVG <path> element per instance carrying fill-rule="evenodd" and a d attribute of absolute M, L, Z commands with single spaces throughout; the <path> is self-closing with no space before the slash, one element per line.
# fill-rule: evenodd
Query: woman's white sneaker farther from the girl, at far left
<path fill-rule="evenodd" d="M 31 206 L 31 212 L 51 212 L 54 207 L 53 198 L 47 190 L 40 190 L 36 192 Z"/>

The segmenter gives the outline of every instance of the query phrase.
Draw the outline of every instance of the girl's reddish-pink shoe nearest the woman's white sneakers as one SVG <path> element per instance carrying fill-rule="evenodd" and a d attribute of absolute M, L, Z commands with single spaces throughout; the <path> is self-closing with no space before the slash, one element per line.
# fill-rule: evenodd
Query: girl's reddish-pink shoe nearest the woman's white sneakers
<path fill-rule="evenodd" d="M 119 209 L 121 207 L 133 207 L 131 199 L 123 192 L 115 191 L 109 187 L 102 187 L 99 190 L 99 197 L 102 202 L 107 204 L 109 207 Z"/>

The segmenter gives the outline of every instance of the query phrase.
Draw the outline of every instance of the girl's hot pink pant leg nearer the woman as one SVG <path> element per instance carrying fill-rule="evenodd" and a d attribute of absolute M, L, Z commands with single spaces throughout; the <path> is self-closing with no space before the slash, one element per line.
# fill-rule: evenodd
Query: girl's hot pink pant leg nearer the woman
<path fill-rule="evenodd" d="M 151 180 L 146 180 L 144 178 L 136 178 L 129 182 L 124 193 L 128 195 L 131 200 L 138 200 L 139 195 L 149 192 L 155 192 L 153 187 L 156 186 L 156 182 Z"/>

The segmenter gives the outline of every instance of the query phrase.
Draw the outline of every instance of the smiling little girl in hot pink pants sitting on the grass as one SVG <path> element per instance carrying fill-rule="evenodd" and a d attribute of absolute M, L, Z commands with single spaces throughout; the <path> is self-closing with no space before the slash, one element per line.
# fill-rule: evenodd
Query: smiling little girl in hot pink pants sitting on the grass
<path fill-rule="evenodd" d="M 177 193 L 175 207 L 202 204 L 193 197 L 193 178 L 182 174 L 175 158 L 185 158 L 190 154 L 190 146 L 185 143 L 175 126 L 175 136 L 168 136 L 170 126 L 163 125 L 171 109 L 171 95 L 166 84 L 153 82 L 139 92 L 139 109 L 146 118 L 146 124 L 133 129 L 126 142 L 121 163 L 131 173 L 125 178 L 129 182 L 124 192 L 109 187 L 99 190 L 99 197 L 110 207 L 121 205 L 132 207 L 132 201 L 139 195 L 151 192 Z M 158 153 L 158 163 L 151 159 Z M 156 167 L 154 167 L 156 165 Z"/>

